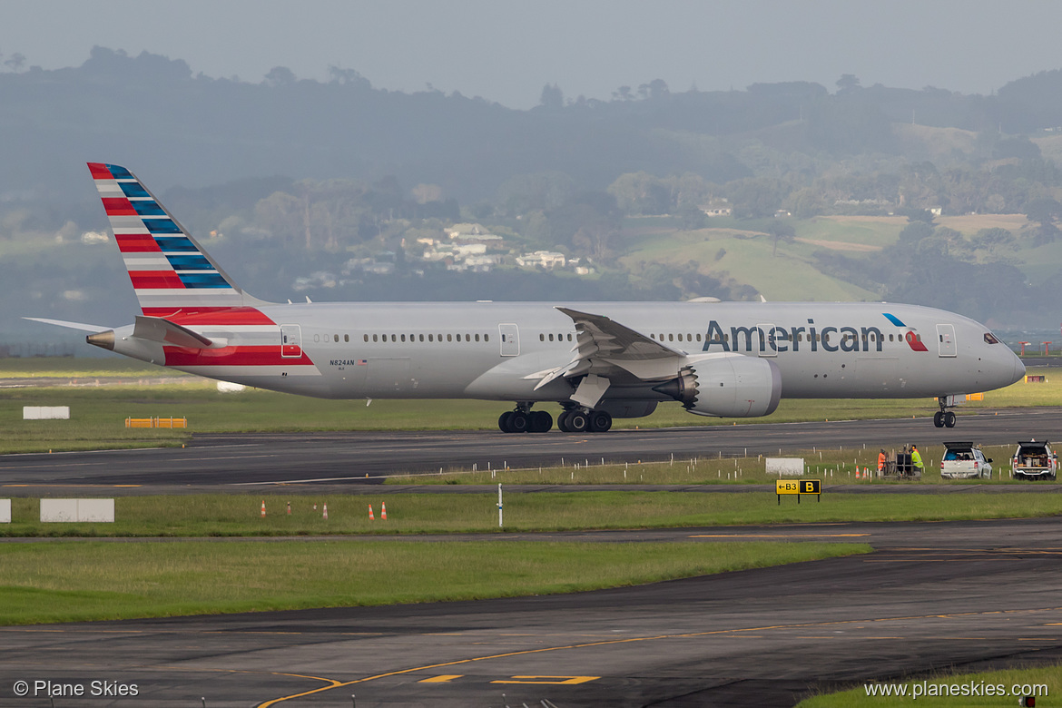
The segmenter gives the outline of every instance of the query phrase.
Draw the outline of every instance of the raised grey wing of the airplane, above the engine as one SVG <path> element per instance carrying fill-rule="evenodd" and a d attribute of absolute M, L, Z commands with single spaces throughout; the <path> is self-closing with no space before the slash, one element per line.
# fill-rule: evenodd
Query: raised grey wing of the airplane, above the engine
<path fill-rule="evenodd" d="M 678 375 L 685 352 L 657 342 L 611 317 L 569 308 L 556 308 L 571 317 L 577 342 L 571 361 L 564 366 L 532 374 L 541 381 L 535 390 L 559 378 L 584 376 L 572 400 L 593 408 L 604 396 L 613 378 L 664 381 Z"/>

